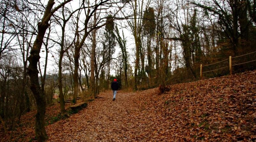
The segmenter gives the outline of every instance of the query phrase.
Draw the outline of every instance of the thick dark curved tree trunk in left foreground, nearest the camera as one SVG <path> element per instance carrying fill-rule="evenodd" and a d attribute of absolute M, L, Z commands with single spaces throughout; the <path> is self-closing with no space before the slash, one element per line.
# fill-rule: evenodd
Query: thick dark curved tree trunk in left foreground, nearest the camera
<path fill-rule="evenodd" d="M 62 3 L 61 5 L 64 5 L 71 0 L 67 0 L 65 3 Z M 30 89 L 32 93 L 34 94 L 35 100 L 36 100 L 36 138 L 38 142 L 44 142 L 48 139 L 48 136 L 45 131 L 44 127 L 44 115 L 45 115 L 45 98 L 44 94 L 42 93 L 41 87 L 39 85 L 38 80 L 38 73 L 37 70 L 37 64 L 40 59 L 39 53 L 42 47 L 44 34 L 46 29 L 48 28 L 49 20 L 52 17 L 52 14 L 58 10 L 60 7 L 56 7 L 54 11 L 52 10 L 54 4 L 54 0 L 49 0 L 48 4 L 46 6 L 44 16 L 41 22 L 38 23 L 38 34 L 36 36 L 36 40 L 34 41 L 33 47 L 30 51 L 30 56 L 28 57 L 29 65 L 28 65 L 28 75 L 30 77 Z M 59 5 L 60 6 L 60 5 Z"/>

